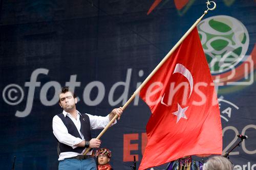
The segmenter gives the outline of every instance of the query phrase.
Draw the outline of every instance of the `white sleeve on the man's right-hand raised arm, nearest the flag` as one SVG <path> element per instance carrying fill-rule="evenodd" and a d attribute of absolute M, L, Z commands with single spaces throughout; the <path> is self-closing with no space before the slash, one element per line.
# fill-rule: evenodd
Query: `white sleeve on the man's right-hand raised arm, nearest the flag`
<path fill-rule="evenodd" d="M 87 114 L 87 113 L 86 113 Z M 110 123 L 109 114 L 106 116 L 95 116 L 91 114 L 87 114 L 90 119 L 91 129 L 103 129 Z M 117 121 L 112 124 L 116 124 Z M 111 126 L 112 126 L 111 125 Z"/>

